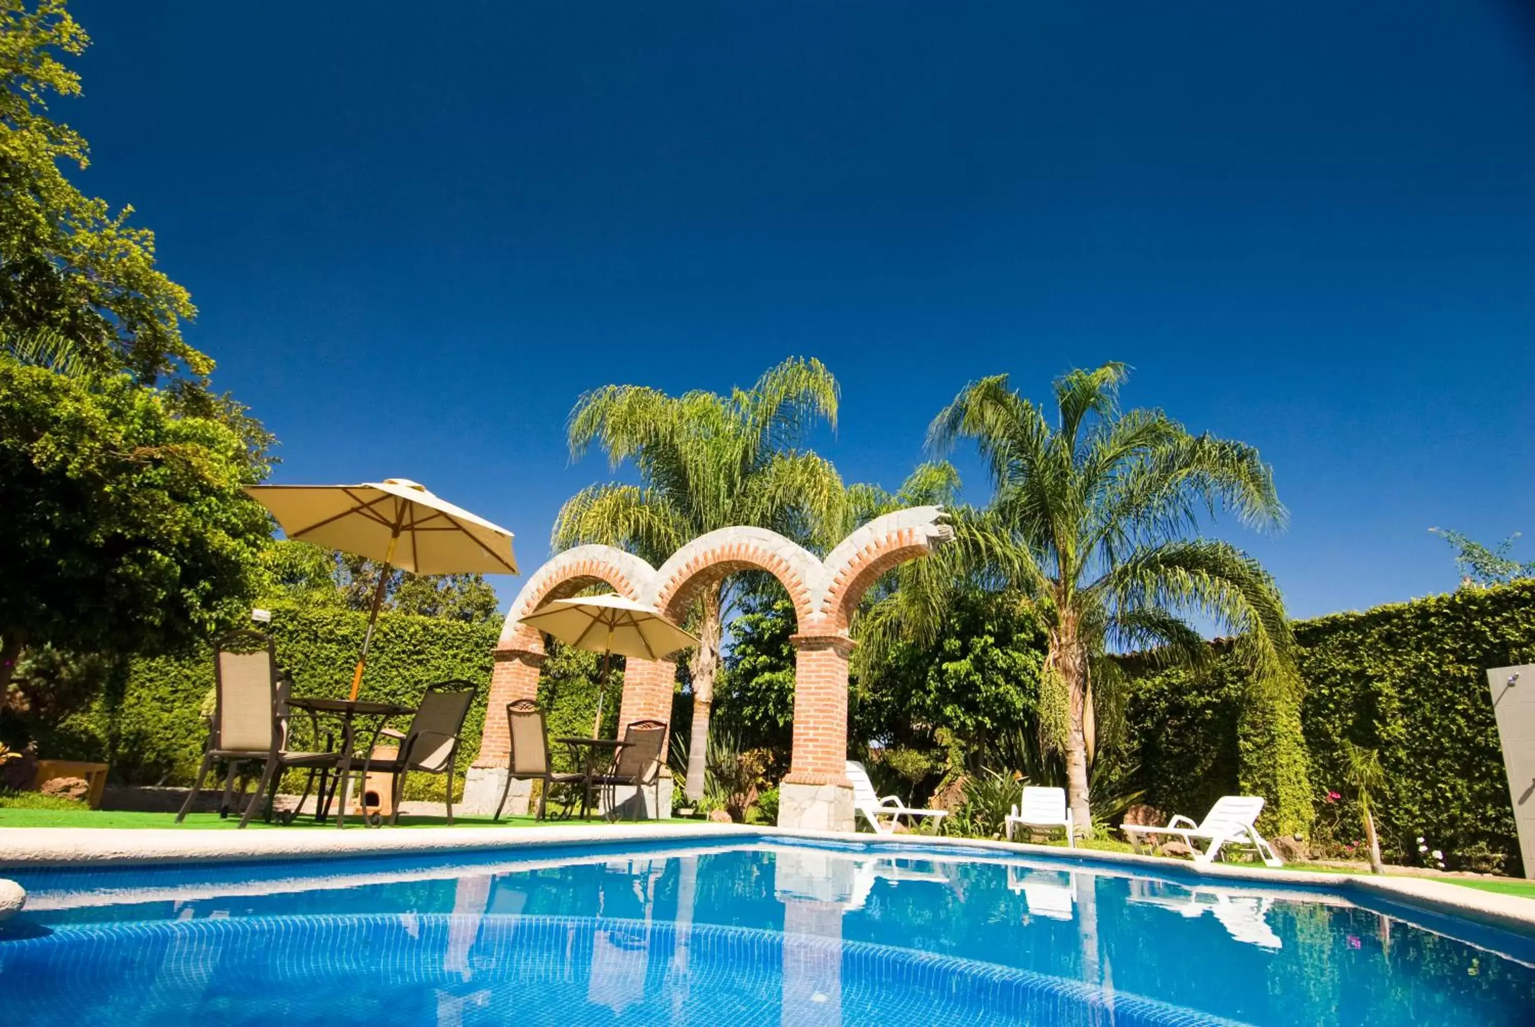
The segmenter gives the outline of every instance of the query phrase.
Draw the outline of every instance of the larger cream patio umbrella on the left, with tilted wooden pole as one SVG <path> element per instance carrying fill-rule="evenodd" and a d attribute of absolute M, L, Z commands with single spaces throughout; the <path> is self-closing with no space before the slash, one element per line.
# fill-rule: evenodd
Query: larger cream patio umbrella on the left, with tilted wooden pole
<path fill-rule="evenodd" d="M 368 632 L 352 677 L 362 688 L 373 628 L 390 568 L 411 574 L 516 574 L 511 533 L 404 477 L 362 485 L 247 485 L 246 493 L 282 525 L 289 539 L 379 560 Z"/>

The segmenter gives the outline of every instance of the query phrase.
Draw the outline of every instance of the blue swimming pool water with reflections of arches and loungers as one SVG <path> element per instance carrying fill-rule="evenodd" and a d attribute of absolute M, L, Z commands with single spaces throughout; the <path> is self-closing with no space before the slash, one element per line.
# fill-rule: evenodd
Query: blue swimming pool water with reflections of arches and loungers
<path fill-rule="evenodd" d="M 18 875 L 54 1024 L 1532 1024 L 1527 938 L 1325 892 L 769 841 Z"/>

